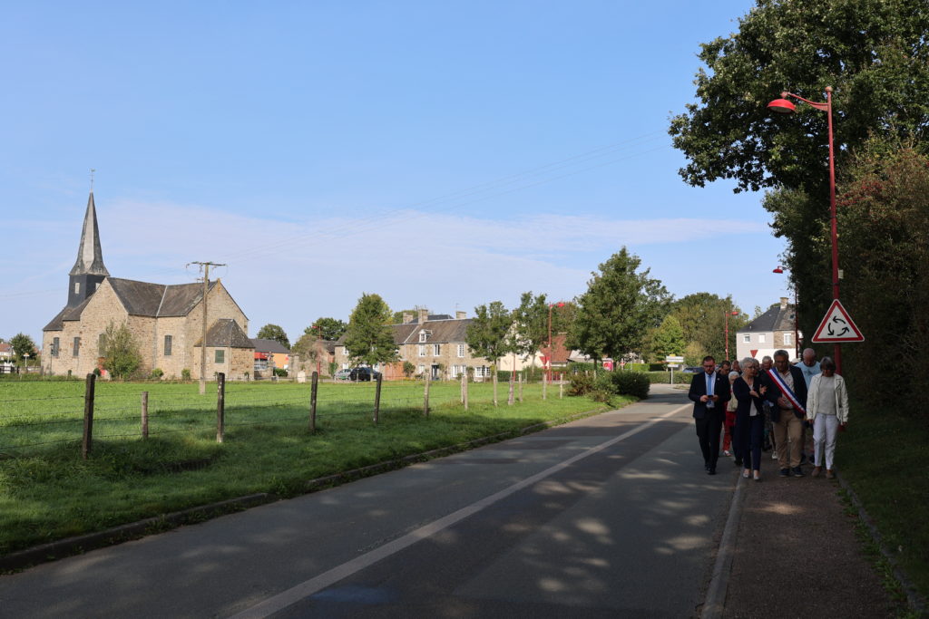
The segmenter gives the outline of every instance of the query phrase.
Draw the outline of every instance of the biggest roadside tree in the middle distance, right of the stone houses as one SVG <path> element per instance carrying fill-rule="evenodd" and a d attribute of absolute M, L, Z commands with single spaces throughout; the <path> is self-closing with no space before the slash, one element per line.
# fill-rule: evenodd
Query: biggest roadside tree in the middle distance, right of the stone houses
<path fill-rule="evenodd" d="M 648 329 L 661 324 L 671 295 L 649 269 L 637 272 L 642 261 L 625 247 L 600 264 L 577 299 L 578 311 L 568 344 L 595 360 L 638 352 Z"/>

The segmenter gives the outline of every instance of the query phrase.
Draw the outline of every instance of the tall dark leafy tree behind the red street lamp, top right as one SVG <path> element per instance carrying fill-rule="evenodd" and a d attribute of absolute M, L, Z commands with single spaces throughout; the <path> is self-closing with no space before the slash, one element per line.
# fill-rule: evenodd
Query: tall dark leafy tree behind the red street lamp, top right
<path fill-rule="evenodd" d="M 929 4 L 925 0 L 758 0 L 739 32 L 701 45 L 697 102 L 672 119 L 694 186 L 733 179 L 773 187 L 765 208 L 787 239 L 786 264 L 815 329 L 831 300 L 827 116 L 797 102 L 772 115 L 783 90 L 824 101 L 831 86 L 837 166 L 871 134 L 925 144 L 929 131 Z"/>

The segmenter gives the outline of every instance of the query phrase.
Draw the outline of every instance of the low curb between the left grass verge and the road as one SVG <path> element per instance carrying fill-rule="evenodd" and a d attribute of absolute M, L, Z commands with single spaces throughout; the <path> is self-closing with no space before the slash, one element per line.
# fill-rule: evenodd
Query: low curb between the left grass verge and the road
<path fill-rule="evenodd" d="M 338 472 L 333 475 L 327 475 L 325 477 L 309 480 L 304 485 L 304 488 L 306 490 L 306 494 L 310 494 L 330 486 L 345 484 L 347 482 L 355 481 L 363 477 L 371 477 L 386 471 L 395 471 L 411 464 L 415 464 L 416 462 L 424 462 L 425 460 L 433 458 L 451 456 L 451 454 L 463 452 L 481 445 L 499 443 L 506 439 L 517 438 L 518 436 L 522 436 L 524 434 L 529 434 L 531 432 L 537 432 L 556 425 L 569 423 L 570 421 L 575 421 L 584 417 L 592 417 L 602 413 L 613 412 L 614 410 L 616 409 L 603 411 L 588 410 L 560 419 L 552 419 L 550 421 L 535 423 L 518 430 L 500 432 L 498 434 L 483 436 L 471 441 L 466 441 L 464 443 L 458 443 L 456 445 L 439 447 L 438 449 L 431 449 L 429 451 L 424 451 L 418 454 L 411 454 L 410 456 L 405 456 L 403 458 L 378 462 L 377 464 L 361 467 L 360 469 Z M 210 503 L 208 505 L 183 509 L 181 511 L 162 514 L 160 516 L 152 516 L 137 522 L 128 522 L 126 524 L 121 524 L 119 526 L 115 526 L 104 531 L 98 531 L 96 533 L 76 535 L 73 537 L 67 537 L 65 539 L 59 539 L 54 542 L 48 542 L 47 544 L 42 544 L 40 546 L 34 546 L 33 548 L 25 548 L 23 550 L 11 552 L 0 557 L 0 573 L 20 571 L 40 563 L 57 561 L 72 555 L 82 554 L 88 550 L 115 546 L 117 544 L 139 539 L 153 533 L 164 533 L 164 531 L 174 529 L 185 524 L 203 522 L 218 516 L 233 513 L 235 511 L 242 511 L 243 509 L 249 509 L 259 505 L 273 503 L 281 500 L 281 498 L 283 497 L 268 492 L 247 496 L 237 496 L 234 498 L 217 501 L 216 503 Z"/>

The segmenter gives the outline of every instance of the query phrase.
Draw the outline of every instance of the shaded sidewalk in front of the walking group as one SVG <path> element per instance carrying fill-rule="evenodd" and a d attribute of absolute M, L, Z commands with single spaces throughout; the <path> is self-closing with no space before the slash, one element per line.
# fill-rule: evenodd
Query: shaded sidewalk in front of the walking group
<path fill-rule="evenodd" d="M 728 461 L 726 461 L 728 460 Z M 721 467 L 736 467 L 731 458 Z M 781 478 L 762 454 L 762 479 L 739 476 L 742 505 L 724 617 L 887 617 L 891 602 L 844 513 L 837 481 Z M 839 472 L 841 475 L 841 471 Z"/>

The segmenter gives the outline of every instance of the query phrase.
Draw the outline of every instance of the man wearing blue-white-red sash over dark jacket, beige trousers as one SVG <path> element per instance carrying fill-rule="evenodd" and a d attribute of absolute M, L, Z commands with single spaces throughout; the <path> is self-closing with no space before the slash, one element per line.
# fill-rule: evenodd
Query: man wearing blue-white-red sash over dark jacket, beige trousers
<path fill-rule="evenodd" d="M 771 422 L 778 450 L 781 477 L 803 477 L 800 469 L 801 437 L 806 417 L 806 381 L 800 368 L 791 365 L 787 351 L 774 354 L 774 368 L 763 377 L 765 398 L 771 403 Z M 790 443 L 788 443 L 790 440 Z"/>

